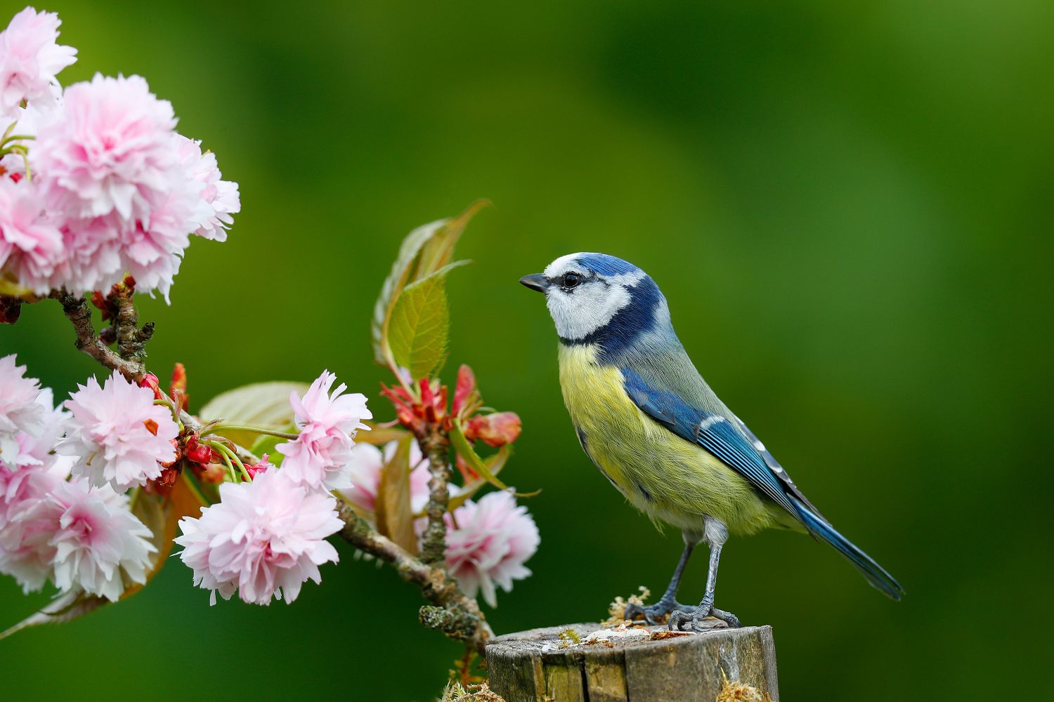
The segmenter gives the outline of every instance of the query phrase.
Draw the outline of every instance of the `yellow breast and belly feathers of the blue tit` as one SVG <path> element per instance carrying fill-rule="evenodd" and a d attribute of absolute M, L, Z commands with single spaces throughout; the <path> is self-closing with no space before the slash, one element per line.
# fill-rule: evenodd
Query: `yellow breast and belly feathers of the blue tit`
<path fill-rule="evenodd" d="M 582 447 L 630 502 L 652 519 L 695 531 L 706 515 L 733 533 L 779 520 L 739 474 L 641 412 L 623 389 L 622 373 L 596 358 L 596 346 L 561 344 L 564 402 Z"/>

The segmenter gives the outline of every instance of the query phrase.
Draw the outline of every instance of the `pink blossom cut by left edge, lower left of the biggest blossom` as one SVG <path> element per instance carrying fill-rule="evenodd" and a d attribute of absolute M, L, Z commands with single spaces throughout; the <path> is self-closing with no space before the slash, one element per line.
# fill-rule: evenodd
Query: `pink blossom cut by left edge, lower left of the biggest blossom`
<path fill-rule="evenodd" d="M 45 218 L 34 182 L 0 178 L 0 275 L 43 295 L 64 258 L 62 233 Z"/>

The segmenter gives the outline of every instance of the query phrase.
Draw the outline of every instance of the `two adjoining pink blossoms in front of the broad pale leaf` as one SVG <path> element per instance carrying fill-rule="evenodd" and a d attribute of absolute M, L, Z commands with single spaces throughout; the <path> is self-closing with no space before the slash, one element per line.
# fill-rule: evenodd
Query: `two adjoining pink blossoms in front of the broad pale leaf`
<path fill-rule="evenodd" d="M 326 370 L 302 397 L 291 394 L 299 434 L 278 444 L 280 468 L 265 456 L 245 466 L 245 482 L 225 482 L 220 501 L 202 509 L 200 518 L 180 520 L 180 558 L 194 570 L 194 584 L 212 590 L 213 604 L 216 593 L 230 599 L 235 590 L 245 602 L 269 604 L 274 598 L 290 603 L 309 578 L 319 582 L 319 565 L 337 561 L 326 538 L 343 522 L 329 490 L 352 488 L 351 458 L 363 448 L 355 446 L 354 436 L 367 428 L 363 420 L 371 415 L 366 396 L 345 395 L 344 384 L 332 389 L 335 381 Z M 199 445 L 195 440 L 188 456 L 193 452 L 195 460 L 215 460 L 208 446 L 199 450 Z"/>

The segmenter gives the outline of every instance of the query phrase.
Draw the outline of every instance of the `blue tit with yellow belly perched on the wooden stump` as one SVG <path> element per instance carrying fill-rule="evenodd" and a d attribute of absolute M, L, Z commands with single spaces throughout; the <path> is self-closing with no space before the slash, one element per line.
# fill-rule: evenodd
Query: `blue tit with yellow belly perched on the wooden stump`
<path fill-rule="evenodd" d="M 674 630 L 704 630 L 710 617 L 740 626 L 715 607 L 721 549 L 729 535 L 767 527 L 831 544 L 874 587 L 901 598 L 900 583 L 823 518 L 706 384 L 647 274 L 614 256 L 580 253 L 520 282 L 546 297 L 560 337 L 560 385 L 582 449 L 632 505 L 684 539 L 663 596 L 629 605 L 627 619 L 657 624 L 668 617 Z M 689 606 L 677 593 L 699 543 L 709 548 L 709 566 L 703 598 Z"/>

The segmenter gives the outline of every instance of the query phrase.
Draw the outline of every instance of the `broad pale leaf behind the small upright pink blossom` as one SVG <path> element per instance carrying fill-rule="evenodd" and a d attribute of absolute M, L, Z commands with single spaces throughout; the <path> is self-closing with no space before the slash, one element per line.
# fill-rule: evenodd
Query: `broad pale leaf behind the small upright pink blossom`
<path fill-rule="evenodd" d="M 225 424 L 281 432 L 293 425 L 290 394 L 302 395 L 307 389 L 306 383 L 282 381 L 242 385 L 214 397 L 198 416 L 206 421 L 222 419 Z M 240 429 L 225 429 L 219 435 L 239 446 L 252 446 L 258 436 Z"/>

